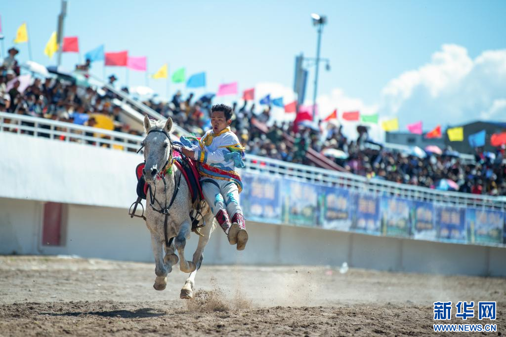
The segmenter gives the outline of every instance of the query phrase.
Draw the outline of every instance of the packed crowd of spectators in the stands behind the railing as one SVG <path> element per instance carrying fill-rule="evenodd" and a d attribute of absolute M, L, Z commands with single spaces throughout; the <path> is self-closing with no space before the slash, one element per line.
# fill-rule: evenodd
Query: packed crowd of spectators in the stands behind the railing
<path fill-rule="evenodd" d="M 86 115 L 84 124 L 95 126 L 97 115 L 108 116 L 115 131 L 141 135 L 121 117 L 121 107 L 114 104 L 117 95 L 107 88 L 83 87 L 68 79 L 34 78 L 26 88 L 20 88 L 20 67 L 16 60 L 19 51 L 9 50 L 9 57 L 0 67 L 0 111 L 18 115 L 48 118 L 68 123 L 82 123 L 76 116 Z M 77 65 L 79 71 L 88 71 L 90 62 Z M 114 86 L 117 78 L 109 76 Z M 121 88 L 128 93 L 129 89 Z M 210 108 L 213 95 L 200 98 L 190 93 L 183 98 L 176 92 L 169 102 L 156 98 L 142 100 L 145 105 L 164 117 L 171 117 L 184 129 L 201 135 L 210 128 Z M 249 104 L 249 106 L 248 106 Z M 504 146 L 493 155 L 476 149 L 475 161 L 464 162 L 451 152 L 447 155 L 429 154 L 425 158 L 402 151 L 387 150 L 368 139 L 367 128 L 357 127 L 357 139 L 347 137 L 343 128 L 329 123 L 277 122 L 271 118 L 271 108 L 258 110 L 254 103 L 236 103 L 232 131 L 239 137 L 246 153 L 287 162 L 313 165 L 307 159 L 308 149 L 313 149 L 335 161 L 347 171 L 398 183 L 439 188 L 440 181 L 451 180 L 460 192 L 506 196 L 506 165 Z M 104 144 L 104 146 L 107 146 Z M 448 150 L 448 149 L 447 149 Z M 451 149 L 450 149 L 451 150 Z"/>

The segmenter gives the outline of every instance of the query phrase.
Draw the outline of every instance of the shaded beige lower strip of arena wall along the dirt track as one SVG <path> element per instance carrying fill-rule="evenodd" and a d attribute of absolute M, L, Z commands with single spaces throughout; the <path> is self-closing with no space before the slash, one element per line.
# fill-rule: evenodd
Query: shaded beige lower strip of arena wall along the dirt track
<path fill-rule="evenodd" d="M 0 199 L 0 254 L 76 254 L 153 262 L 144 222 L 125 209 L 68 205 L 62 247 L 41 245 L 43 203 Z M 204 253 L 209 264 L 339 266 L 438 274 L 506 276 L 506 249 L 372 236 L 318 228 L 248 223 L 247 249 L 237 252 L 220 228 Z M 198 236 L 187 245 L 189 256 Z M 153 267 L 154 268 L 154 267 Z"/>

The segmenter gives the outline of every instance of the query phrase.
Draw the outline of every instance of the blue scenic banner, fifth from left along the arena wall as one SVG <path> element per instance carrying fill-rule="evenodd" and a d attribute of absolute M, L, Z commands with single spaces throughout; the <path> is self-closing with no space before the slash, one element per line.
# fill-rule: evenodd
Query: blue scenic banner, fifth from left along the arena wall
<path fill-rule="evenodd" d="M 392 236 L 409 236 L 412 207 L 413 203 L 410 200 L 394 197 L 381 198 L 382 233 Z"/>

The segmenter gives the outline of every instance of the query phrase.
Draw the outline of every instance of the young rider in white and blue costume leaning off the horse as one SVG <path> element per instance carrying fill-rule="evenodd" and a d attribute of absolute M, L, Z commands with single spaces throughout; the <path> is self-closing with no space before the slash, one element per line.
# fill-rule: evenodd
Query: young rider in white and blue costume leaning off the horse
<path fill-rule="evenodd" d="M 230 131 L 232 113 L 232 108 L 227 105 L 214 105 L 211 108 L 213 129 L 208 130 L 196 145 L 185 141 L 184 145 L 191 147 L 191 150 L 182 148 L 182 152 L 200 162 L 200 184 L 204 198 L 230 244 L 237 245 L 237 250 L 241 251 L 246 246 L 248 233 L 238 203 L 242 182 L 235 168 L 244 167 L 244 148 L 235 133 Z"/>

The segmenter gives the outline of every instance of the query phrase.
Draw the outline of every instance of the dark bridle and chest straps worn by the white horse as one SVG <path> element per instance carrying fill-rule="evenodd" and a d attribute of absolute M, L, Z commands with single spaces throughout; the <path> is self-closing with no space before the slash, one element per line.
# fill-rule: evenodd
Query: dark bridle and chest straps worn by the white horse
<path fill-rule="evenodd" d="M 160 172 L 158 172 L 156 174 L 156 176 L 158 176 L 163 181 L 163 195 L 165 197 L 164 198 L 164 200 L 165 200 L 164 206 L 162 206 L 160 204 L 160 202 L 158 200 L 156 200 L 156 184 L 154 184 L 154 192 L 152 192 L 151 183 L 148 183 L 148 191 L 149 191 L 149 199 L 150 199 L 149 206 L 153 209 L 153 211 L 165 215 L 165 219 L 163 221 L 163 234 L 164 234 L 164 238 L 165 238 L 165 247 L 169 248 L 172 245 L 174 237 L 171 237 L 169 239 L 168 234 L 167 234 L 167 220 L 168 220 L 168 216 L 171 215 L 170 213 L 168 213 L 168 211 L 171 209 L 172 205 L 174 204 L 174 201 L 176 200 L 176 196 L 178 195 L 179 186 L 181 184 L 182 173 L 181 172 L 179 173 L 179 178 L 177 179 L 178 180 L 177 183 L 176 183 L 176 175 L 174 175 L 174 193 L 172 195 L 170 204 L 168 204 L 168 206 L 167 206 L 167 182 L 165 181 L 165 173 L 167 171 L 170 171 L 174 165 L 174 147 L 175 147 L 175 145 L 172 142 L 171 136 L 167 132 L 165 132 L 165 130 L 153 129 L 153 130 L 149 131 L 148 134 L 150 134 L 152 132 L 163 133 L 168 138 L 168 141 L 170 142 L 170 148 L 171 148 L 170 155 L 168 156 L 168 159 L 165 162 L 165 165 L 163 165 Z M 144 148 L 144 145 L 141 146 L 141 148 L 137 151 L 137 153 L 139 153 L 143 148 Z M 156 181 L 156 176 L 155 176 L 154 181 Z M 158 209 L 155 207 L 155 202 L 158 204 Z"/>

